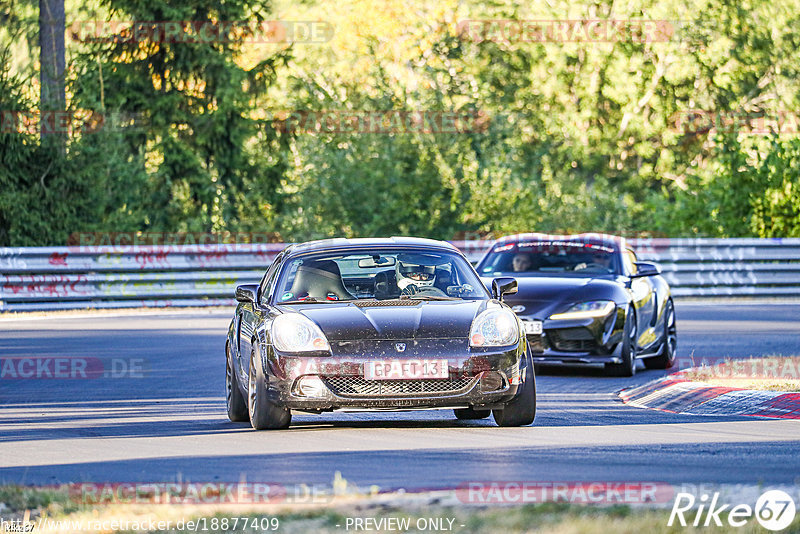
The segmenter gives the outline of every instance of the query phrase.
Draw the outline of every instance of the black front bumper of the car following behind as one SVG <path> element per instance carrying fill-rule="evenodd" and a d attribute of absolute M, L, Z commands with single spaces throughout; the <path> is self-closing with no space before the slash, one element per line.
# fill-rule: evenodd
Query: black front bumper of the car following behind
<path fill-rule="evenodd" d="M 523 320 L 532 318 L 522 317 Z M 625 328 L 625 310 L 606 317 L 545 320 L 541 335 L 528 335 L 533 362 L 547 365 L 620 363 L 618 346 Z"/>

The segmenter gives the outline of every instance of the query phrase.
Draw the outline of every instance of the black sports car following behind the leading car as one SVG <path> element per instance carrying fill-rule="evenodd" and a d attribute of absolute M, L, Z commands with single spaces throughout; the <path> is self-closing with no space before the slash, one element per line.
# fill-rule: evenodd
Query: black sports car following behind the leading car
<path fill-rule="evenodd" d="M 525 325 L 534 362 L 605 364 L 632 376 L 675 362 L 675 306 L 660 268 L 625 239 L 602 234 L 520 234 L 495 242 L 477 266 L 482 279 L 514 276 L 506 302 Z"/>

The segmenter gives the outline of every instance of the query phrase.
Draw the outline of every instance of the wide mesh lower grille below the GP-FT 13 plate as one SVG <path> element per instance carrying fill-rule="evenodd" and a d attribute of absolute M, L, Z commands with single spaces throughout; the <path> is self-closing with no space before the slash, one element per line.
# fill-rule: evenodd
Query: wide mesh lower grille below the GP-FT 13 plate
<path fill-rule="evenodd" d="M 430 380 L 365 380 L 360 376 L 324 378 L 340 397 L 396 397 L 405 395 L 452 395 L 467 391 L 475 377 Z"/>

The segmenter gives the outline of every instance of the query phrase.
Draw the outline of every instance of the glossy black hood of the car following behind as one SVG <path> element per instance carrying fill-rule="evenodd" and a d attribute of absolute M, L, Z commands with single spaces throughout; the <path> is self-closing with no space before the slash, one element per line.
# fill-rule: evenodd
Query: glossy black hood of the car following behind
<path fill-rule="evenodd" d="M 517 293 L 504 301 L 521 317 L 544 319 L 565 305 L 586 300 L 619 300 L 620 285 L 609 279 L 567 276 L 520 276 Z M 484 278 L 491 286 L 492 279 Z M 520 308 L 522 307 L 522 308 Z"/>

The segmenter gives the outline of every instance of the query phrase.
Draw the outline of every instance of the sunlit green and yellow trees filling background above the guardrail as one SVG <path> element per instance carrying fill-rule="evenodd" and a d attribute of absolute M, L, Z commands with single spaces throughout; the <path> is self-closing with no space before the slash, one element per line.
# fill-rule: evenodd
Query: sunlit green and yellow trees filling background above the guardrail
<path fill-rule="evenodd" d="M 75 17 L 266 20 L 263 0 L 96 0 Z M 800 0 L 556 0 L 436 6 L 278 0 L 288 20 L 325 20 L 322 44 L 71 43 L 71 109 L 122 113 L 125 128 L 64 150 L 0 133 L 0 245 L 53 245 L 75 231 L 254 231 L 285 240 L 520 231 L 798 236 L 797 125 L 759 117 L 800 104 Z M 0 0 L 2 4 L 2 0 Z M 32 12 L 7 1 L 0 109 L 35 110 L 14 37 Z M 72 16 L 70 15 L 72 14 Z M 672 21 L 665 39 L 476 42 L 459 21 Z M 12 74 L 16 73 L 16 74 Z M 281 131 L 271 110 L 468 113 L 463 133 Z M 687 124 L 692 110 L 743 115 Z M 791 113 L 790 113 L 791 114 Z M 794 120 L 800 114 L 793 114 Z"/>

